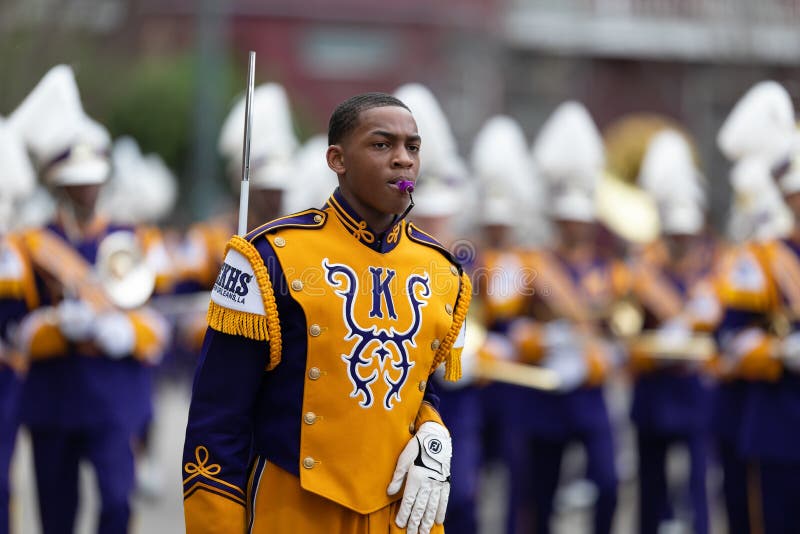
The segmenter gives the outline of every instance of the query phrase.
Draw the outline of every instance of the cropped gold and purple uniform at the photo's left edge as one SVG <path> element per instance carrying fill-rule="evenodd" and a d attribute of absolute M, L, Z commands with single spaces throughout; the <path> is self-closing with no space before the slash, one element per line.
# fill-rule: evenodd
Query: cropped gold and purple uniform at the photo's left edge
<path fill-rule="evenodd" d="M 25 362 L 12 333 L 38 304 L 30 262 L 15 235 L 0 241 L 0 534 L 10 528 L 9 469 L 19 425 L 19 400 Z"/>

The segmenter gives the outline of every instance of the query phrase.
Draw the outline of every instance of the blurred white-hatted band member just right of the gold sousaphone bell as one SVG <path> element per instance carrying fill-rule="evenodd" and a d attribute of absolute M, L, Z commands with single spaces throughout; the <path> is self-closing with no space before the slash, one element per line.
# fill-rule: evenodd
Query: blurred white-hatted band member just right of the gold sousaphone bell
<path fill-rule="evenodd" d="M 676 519 L 667 476 L 674 445 L 689 453 L 692 531 L 706 534 L 706 463 L 711 390 L 706 360 L 692 358 L 695 331 L 708 332 L 720 319 L 711 281 L 713 251 L 702 240 L 705 195 L 691 148 L 674 130 L 648 146 L 639 183 L 658 206 L 661 240 L 633 261 L 633 294 L 644 311 L 643 327 L 655 331 L 655 346 L 632 347 L 634 392 L 631 418 L 639 458 L 639 532 L 657 534 Z M 662 350 L 663 352 L 659 352 Z"/>

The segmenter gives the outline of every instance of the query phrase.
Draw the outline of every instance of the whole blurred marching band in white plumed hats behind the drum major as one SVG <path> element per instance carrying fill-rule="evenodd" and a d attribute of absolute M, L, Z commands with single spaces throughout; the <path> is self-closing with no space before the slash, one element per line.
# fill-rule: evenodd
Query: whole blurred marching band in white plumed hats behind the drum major
<path fill-rule="evenodd" d="M 395 96 L 423 140 L 408 217 L 475 288 L 464 377 L 434 377 L 454 442 L 447 532 L 484 522 L 489 468 L 506 473 L 497 532 L 550 532 L 568 486 L 591 510 L 587 531 L 611 532 L 627 478 L 637 532 L 703 534 L 714 516 L 731 533 L 799 531 L 800 131 L 786 89 L 755 85 L 718 133 L 725 232 L 706 220 L 712 184 L 679 127 L 634 125 L 611 146 L 568 101 L 532 142 L 513 117 L 491 117 L 466 157 L 431 91 Z M 252 113 L 250 229 L 337 187 L 324 133 L 297 139 L 280 85 L 256 87 Z M 242 98 L 218 143 L 234 191 L 244 115 Z M 608 171 L 625 157 L 636 183 Z M 149 454 L 154 384 L 191 380 L 237 214 L 165 226 L 174 176 L 134 139 L 110 139 L 63 65 L 0 120 L 0 161 L 0 533 L 20 425 L 43 531 L 72 532 L 88 461 L 98 531 L 126 532 L 137 484 L 157 492 L 165 468 Z M 622 413 L 609 405 L 619 388 L 631 392 Z M 565 473 L 576 445 L 583 472 Z M 677 481 L 676 447 L 689 464 Z"/>

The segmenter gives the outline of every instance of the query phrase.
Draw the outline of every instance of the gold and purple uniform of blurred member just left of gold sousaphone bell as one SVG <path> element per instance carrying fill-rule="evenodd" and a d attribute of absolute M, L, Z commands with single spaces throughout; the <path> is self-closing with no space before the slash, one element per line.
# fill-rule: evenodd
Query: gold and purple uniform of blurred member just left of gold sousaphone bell
<path fill-rule="evenodd" d="M 510 531 L 550 532 L 561 460 L 569 443 L 578 441 L 586 450 L 586 476 L 597 489 L 593 532 L 607 533 L 616 509 L 617 474 L 603 397 L 612 362 L 602 323 L 611 304 L 628 291 L 629 277 L 617 262 L 572 262 L 548 250 L 533 253 L 530 265 L 536 273 L 530 318 L 518 320 L 510 333 L 518 358 L 543 362 L 550 350 L 546 332 L 561 321 L 571 325 L 571 337 L 580 337 L 575 341 L 581 345 L 586 377 L 566 391 L 517 389 L 516 408 L 508 414 L 516 426 Z"/>

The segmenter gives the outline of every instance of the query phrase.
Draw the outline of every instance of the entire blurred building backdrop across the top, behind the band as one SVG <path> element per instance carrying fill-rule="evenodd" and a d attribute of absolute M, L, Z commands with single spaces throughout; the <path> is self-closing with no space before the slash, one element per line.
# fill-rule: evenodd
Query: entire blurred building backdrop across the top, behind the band
<path fill-rule="evenodd" d="M 758 80 L 800 96 L 798 27 L 800 0 L 12 0 L 0 4 L 0 38 L 20 28 L 41 37 L 9 48 L 18 52 L 0 104 L 11 107 L 38 79 L 38 63 L 64 60 L 54 44 L 67 31 L 92 35 L 105 45 L 98 55 L 122 61 L 194 53 L 197 176 L 210 167 L 202 155 L 229 104 L 215 75 L 229 59 L 244 66 L 250 49 L 259 80 L 289 89 L 306 134 L 324 131 L 351 94 L 420 81 L 442 100 L 466 153 L 490 115 L 514 116 L 532 140 L 558 103 L 576 98 L 601 129 L 643 111 L 684 124 L 721 222 L 728 165 L 716 132 Z"/>

